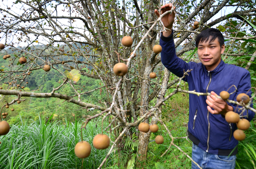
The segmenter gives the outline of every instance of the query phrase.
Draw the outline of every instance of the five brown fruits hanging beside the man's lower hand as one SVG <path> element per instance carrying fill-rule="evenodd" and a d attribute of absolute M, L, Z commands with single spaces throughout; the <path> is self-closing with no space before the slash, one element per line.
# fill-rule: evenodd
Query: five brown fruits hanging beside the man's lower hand
<path fill-rule="evenodd" d="M 222 91 L 219 95 L 223 100 L 227 100 L 229 98 L 229 93 L 226 91 Z M 237 95 L 236 101 L 247 104 L 250 102 L 250 97 L 247 94 L 241 93 Z M 225 119 L 228 123 L 236 123 L 236 126 L 238 127 L 238 129 L 233 133 L 234 138 L 239 141 L 244 140 L 244 130 L 247 130 L 250 127 L 250 122 L 247 119 L 240 119 L 239 114 L 233 111 L 227 112 Z"/>

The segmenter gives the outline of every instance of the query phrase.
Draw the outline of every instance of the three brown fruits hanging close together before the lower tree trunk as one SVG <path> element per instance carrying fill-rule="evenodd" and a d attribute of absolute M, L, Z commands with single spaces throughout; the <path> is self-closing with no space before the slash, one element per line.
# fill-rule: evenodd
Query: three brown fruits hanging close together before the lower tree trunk
<path fill-rule="evenodd" d="M 150 130 L 152 133 L 156 133 L 158 131 L 158 126 L 156 124 L 153 124 L 151 126 L 149 126 L 148 123 L 142 122 L 139 124 L 138 127 L 139 131 L 144 132 L 144 133 L 148 133 L 148 131 Z M 155 137 L 155 143 L 157 144 L 162 144 L 163 143 L 163 136 L 158 135 Z"/>

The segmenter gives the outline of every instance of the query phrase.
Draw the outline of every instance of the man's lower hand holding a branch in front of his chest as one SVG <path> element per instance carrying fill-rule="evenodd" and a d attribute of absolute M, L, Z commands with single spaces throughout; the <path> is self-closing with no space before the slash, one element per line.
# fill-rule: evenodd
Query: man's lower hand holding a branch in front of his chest
<path fill-rule="evenodd" d="M 233 107 L 229 106 L 226 101 L 215 97 L 217 96 L 215 92 L 212 91 L 211 94 L 212 95 L 207 96 L 207 100 L 206 100 L 206 103 L 209 105 L 207 106 L 207 109 L 210 113 L 222 114 L 225 116 L 227 112 L 233 111 Z"/>

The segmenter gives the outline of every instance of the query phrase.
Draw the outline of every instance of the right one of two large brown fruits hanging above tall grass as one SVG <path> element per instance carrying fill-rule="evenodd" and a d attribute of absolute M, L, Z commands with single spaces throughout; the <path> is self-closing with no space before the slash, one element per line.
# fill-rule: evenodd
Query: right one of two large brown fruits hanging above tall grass
<path fill-rule="evenodd" d="M 93 146 L 97 149 L 108 148 L 110 140 L 106 134 L 97 134 L 93 138 Z"/>

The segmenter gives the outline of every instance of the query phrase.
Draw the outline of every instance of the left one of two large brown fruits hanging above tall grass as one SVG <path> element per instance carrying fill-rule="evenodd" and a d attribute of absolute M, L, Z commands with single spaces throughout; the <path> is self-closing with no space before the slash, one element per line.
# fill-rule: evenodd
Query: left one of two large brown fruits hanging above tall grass
<path fill-rule="evenodd" d="M 78 158 L 86 158 L 91 154 L 91 145 L 86 142 L 78 142 L 75 146 L 75 154 Z"/>

